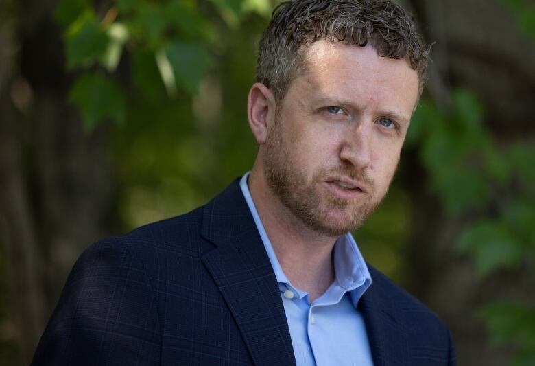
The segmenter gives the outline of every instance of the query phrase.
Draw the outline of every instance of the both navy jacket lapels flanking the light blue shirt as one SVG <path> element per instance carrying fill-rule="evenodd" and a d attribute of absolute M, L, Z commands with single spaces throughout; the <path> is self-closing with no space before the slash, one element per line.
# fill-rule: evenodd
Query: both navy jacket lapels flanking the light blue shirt
<path fill-rule="evenodd" d="M 296 365 L 292 339 L 268 254 L 239 179 L 204 206 L 201 236 L 216 248 L 202 256 L 255 365 Z M 408 365 L 403 314 L 385 276 L 368 264 L 372 285 L 359 300 L 375 366 Z"/>

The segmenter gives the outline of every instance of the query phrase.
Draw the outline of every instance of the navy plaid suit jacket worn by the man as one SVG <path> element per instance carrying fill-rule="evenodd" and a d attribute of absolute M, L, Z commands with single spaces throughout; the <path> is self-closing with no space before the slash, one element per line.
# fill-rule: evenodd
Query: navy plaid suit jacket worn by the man
<path fill-rule="evenodd" d="M 376 366 L 453 365 L 449 331 L 370 266 L 359 301 Z M 295 365 L 281 293 L 234 181 L 208 204 L 93 244 L 32 365 Z"/>

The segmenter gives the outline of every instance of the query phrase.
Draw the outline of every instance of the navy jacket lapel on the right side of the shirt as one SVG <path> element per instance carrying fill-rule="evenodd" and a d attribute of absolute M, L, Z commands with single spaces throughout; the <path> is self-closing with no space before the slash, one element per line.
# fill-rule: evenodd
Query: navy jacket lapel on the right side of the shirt
<path fill-rule="evenodd" d="M 359 300 L 375 366 L 409 365 L 403 314 L 388 296 L 383 275 L 368 264 L 372 286 Z"/>

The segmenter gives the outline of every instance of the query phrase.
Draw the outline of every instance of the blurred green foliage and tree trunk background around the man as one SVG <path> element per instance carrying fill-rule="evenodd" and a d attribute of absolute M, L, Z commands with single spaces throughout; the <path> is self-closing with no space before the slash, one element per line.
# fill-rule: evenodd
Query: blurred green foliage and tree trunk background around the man
<path fill-rule="evenodd" d="M 535 2 L 405 0 L 432 48 L 385 201 L 355 238 L 460 365 L 535 365 Z M 91 242 L 249 170 L 270 0 L 0 0 L 0 364 L 26 365 Z"/>

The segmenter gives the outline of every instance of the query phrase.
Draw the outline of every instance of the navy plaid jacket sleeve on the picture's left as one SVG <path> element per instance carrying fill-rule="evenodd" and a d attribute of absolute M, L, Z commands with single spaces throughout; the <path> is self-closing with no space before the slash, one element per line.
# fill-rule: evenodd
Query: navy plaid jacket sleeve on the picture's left
<path fill-rule="evenodd" d="M 159 365 L 156 297 L 117 238 L 93 244 L 65 284 L 32 365 Z"/>

